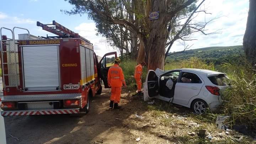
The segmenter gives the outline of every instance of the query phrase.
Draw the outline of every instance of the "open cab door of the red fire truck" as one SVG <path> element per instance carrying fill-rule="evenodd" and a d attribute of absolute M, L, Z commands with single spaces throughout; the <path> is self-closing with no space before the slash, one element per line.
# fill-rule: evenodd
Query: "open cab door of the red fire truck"
<path fill-rule="evenodd" d="M 106 53 L 99 62 L 100 78 L 104 83 L 105 88 L 110 88 L 107 82 L 109 68 L 114 65 L 114 59 L 117 57 L 117 52 Z"/>

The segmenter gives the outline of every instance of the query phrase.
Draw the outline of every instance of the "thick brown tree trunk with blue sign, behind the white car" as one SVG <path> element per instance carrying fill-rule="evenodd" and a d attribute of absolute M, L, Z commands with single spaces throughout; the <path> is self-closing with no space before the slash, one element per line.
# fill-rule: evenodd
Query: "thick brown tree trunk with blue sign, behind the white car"
<path fill-rule="evenodd" d="M 164 69 L 165 44 L 167 36 L 166 0 L 153 0 L 151 11 L 159 11 L 159 19 L 150 21 L 150 36 L 148 39 L 148 70 Z"/>

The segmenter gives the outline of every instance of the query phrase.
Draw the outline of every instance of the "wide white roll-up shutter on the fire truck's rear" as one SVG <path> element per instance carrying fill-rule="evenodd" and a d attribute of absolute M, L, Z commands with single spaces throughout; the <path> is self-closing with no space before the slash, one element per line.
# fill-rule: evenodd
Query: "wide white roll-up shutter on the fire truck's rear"
<path fill-rule="evenodd" d="M 59 46 L 22 47 L 22 54 L 26 90 L 60 88 Z"/>

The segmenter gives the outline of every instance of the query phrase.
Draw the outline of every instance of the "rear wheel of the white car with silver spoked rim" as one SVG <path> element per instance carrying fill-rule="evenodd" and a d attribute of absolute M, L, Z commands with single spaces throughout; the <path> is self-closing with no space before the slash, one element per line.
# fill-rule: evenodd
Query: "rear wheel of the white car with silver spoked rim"
<path fill-rule="evenodd" d="M 208 105 L 204 100 L 196 99 L 192 102 L 191 108 L 194 113 L 196 114 L 202 114 L 206 112 Z"/>

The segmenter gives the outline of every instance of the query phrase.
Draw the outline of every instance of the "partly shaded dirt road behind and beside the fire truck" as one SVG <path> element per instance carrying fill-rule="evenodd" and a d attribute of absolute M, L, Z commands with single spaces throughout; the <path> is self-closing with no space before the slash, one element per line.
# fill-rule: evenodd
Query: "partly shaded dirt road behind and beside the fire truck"
<path fill-rule="evenodd" d="M 102 141 L 106 144 L 134 143 L 122 121 L 116 120 L 124 118 L 123 111 L 108 110 L 109 97 L 109 89 L 103 89 L 102 95 L 93 98 L 90 112 L 82 117 L 5 117 L 7 144 L 90 144 Z"/>

